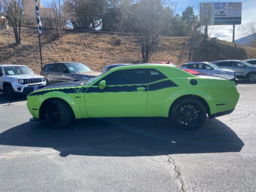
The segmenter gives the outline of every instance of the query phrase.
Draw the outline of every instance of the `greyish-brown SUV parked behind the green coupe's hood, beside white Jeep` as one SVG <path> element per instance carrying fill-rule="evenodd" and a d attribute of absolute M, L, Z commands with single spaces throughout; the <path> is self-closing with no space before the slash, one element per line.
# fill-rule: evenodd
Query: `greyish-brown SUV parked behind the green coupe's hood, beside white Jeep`
<path fill-rule="evenodd" d="M 90 80 L 101 74 L 101 72 L 92 71 L 83 63 L 60 62 L 45 64 L 40 74 L 46 78 L 47 84 L 50 85 L 54 83 Z"/>

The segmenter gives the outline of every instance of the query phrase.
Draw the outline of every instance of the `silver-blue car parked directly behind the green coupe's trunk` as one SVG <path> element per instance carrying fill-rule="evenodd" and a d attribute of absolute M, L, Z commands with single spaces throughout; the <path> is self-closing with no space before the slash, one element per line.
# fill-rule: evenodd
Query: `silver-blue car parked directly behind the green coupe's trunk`
<path fill-rule="evenodd" d="M 229 69 L 220 69 L 218 66 L 210 62 L 188 62 L 181 66 L 182 69 L 195 70 L 200 75 L 226 74 L 235 77 L 234 71 Z"/>

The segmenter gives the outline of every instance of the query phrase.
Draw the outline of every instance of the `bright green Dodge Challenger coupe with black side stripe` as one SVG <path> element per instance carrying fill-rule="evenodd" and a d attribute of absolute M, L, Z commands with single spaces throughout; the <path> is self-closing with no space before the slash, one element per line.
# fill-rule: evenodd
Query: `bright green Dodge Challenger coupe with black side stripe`
<path fill-rule="evenodd" d="M 194 130 L 206 115 L 230 114 L 239 99 L 233 81 L 194 76 L 166 64 L 133 64 L 112 68 L 86 82 L 53 84 L 28 94 L 32 120 L 52 128 L 73 118 L 166 117 Z"/>

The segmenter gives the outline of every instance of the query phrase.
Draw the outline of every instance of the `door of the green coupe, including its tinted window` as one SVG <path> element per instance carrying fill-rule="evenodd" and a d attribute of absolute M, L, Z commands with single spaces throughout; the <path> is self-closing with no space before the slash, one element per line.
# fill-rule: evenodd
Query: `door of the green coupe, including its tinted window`
<path fill-rule="evenodd" d="M 86 112 L 89 117 L 145 116 L 148 69 L 122 69 L 110 72 L 85 92 Z M 100 81 L 106 86 L 100 88 Z"/>

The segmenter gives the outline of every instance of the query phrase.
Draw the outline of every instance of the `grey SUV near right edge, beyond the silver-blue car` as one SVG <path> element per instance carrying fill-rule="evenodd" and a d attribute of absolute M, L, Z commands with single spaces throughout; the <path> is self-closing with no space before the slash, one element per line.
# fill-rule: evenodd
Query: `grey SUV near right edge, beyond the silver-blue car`
<path fill-rule="evenodd" d="M 256 82 L 256 66 L 248 62 L 241 60 L 222 60 L 212 63 L 220 68 L 234 70 L 238 78 L 247 78 L 250 82 Z"/>

